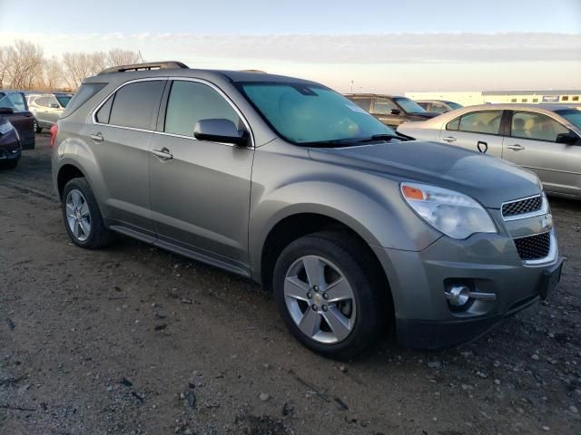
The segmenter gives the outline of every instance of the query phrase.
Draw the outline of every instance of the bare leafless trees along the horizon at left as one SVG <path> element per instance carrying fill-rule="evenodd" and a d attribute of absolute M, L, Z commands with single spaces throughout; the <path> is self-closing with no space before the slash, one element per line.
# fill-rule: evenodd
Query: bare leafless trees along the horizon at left
<path fill-rule="evenodd" d="M 85 77 L 104 68 L 140 61 L 139 53 L 120 48 L 44 57 L 40 45 L 18 40 L 0 45 L 0 89 L 74 92 Z"/>

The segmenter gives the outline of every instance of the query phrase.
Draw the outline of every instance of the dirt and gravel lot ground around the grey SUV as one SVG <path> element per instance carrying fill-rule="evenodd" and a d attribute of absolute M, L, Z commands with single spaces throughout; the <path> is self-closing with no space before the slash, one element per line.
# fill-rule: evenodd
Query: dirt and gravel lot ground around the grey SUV
<path fill-rule="evenodd" d="M 581 202 L 561 285 L 475 343 L 332 362 L 271 295 L 121 238 L 66 237 L 47 136 L 0 172 L 0 434 L 581 433 Z"/>

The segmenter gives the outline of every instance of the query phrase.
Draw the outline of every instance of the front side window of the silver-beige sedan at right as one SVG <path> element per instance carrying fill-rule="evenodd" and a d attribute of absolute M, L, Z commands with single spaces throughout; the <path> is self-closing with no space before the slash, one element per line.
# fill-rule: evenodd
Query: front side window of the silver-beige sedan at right
<path fill-rule="evenodd" d="M 568 133 L 561 123 L 541 113 L 515 111 L 510 126 L 511 136 L 530 140 L 547 140 L 554 142 L 556 136 Z"/>

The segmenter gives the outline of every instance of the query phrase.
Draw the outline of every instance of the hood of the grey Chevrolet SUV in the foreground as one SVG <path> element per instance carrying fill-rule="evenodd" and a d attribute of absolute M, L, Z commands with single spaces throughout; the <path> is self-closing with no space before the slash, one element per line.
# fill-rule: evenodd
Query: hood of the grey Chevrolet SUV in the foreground
<path fill-rule="evenodd" d="M 423 141 L 394 141 L 347 148 L 309 150 L 314 160 L 385 174 L 462 192 L 487 208 L 537 195 L 537 176 L 516 165 L 478 152 Z"/>

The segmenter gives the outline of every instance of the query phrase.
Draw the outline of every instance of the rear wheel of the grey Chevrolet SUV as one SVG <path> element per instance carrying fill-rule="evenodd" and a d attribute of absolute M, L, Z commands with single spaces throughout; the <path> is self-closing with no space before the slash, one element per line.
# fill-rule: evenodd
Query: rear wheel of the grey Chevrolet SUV
<path fill-rule="evenodd" d="M 79 247 L 98 249 L 113 242 L 114 233 L 105 227 L 101 210 L 86 179 L 71 179 L 62 198 L 64 227 Z"/>

